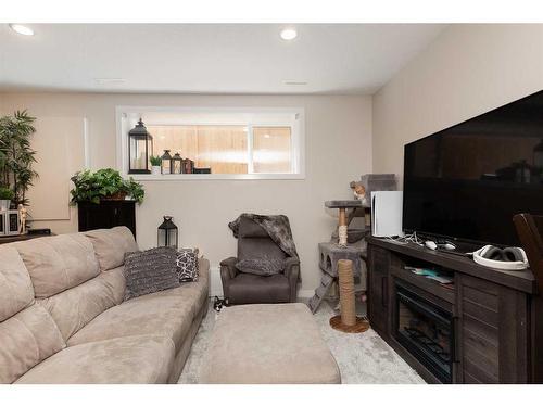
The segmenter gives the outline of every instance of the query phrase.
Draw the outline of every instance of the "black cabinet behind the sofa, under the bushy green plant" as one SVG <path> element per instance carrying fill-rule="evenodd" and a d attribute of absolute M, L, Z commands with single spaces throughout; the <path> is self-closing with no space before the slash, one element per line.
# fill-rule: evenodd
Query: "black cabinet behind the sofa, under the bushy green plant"
<path fill-rule="evenodd" d="M 136 237 L 136 202 L 102 201 L 77 203 L 79 231 L 126 226 Z"/>

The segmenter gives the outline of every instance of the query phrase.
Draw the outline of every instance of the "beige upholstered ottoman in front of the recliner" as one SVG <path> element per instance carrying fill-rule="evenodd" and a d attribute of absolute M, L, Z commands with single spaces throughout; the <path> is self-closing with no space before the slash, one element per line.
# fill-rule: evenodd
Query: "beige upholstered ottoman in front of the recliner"
<path fill-rule="evenodd" d="M 338 364 L 304 304 L 224 308 L 201 383 L 341 383 Z"/>

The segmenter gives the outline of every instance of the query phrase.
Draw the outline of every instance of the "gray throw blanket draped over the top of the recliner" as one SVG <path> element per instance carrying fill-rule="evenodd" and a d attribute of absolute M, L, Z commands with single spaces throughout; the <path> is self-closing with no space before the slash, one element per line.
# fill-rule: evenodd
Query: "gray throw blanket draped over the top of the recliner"
<path fill-rule="evenodd" d="M 292 238 L 292 231 L 290 230 L 289 218 L 287 216 L 241 214 L 236 220 L 228 224 L 236 239 L 238 239 L 239 222 L 242 217 L 247 217 L 260 225 L 285 253 L 291 257 L 298 258 L 296 246 Z"/>

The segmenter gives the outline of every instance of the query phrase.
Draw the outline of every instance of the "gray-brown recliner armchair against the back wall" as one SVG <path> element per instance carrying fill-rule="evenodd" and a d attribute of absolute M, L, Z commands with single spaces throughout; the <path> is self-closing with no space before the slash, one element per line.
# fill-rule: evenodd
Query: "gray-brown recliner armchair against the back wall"
<path fill-rule="evenodd" d="M 285 262 L 282 272 L 258 276 L 241 272 L 242 259 L 274 258 Z M 238 256 L 220 262 L 223 291 L 229 304 L 293 303 L 300 276 L 300 260 L 288 256 L 252 219 L 242 217 L 239 225 Z"/>

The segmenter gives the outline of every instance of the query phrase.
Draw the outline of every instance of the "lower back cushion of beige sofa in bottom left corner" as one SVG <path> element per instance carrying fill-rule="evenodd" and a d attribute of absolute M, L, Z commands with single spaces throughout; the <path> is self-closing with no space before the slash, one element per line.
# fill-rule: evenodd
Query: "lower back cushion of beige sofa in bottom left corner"
<path fill-rule="evenodd" d="M 0 383 L 12 383 L 65 346 L 48 311 L 29 306 L 0 323 Z"/>

